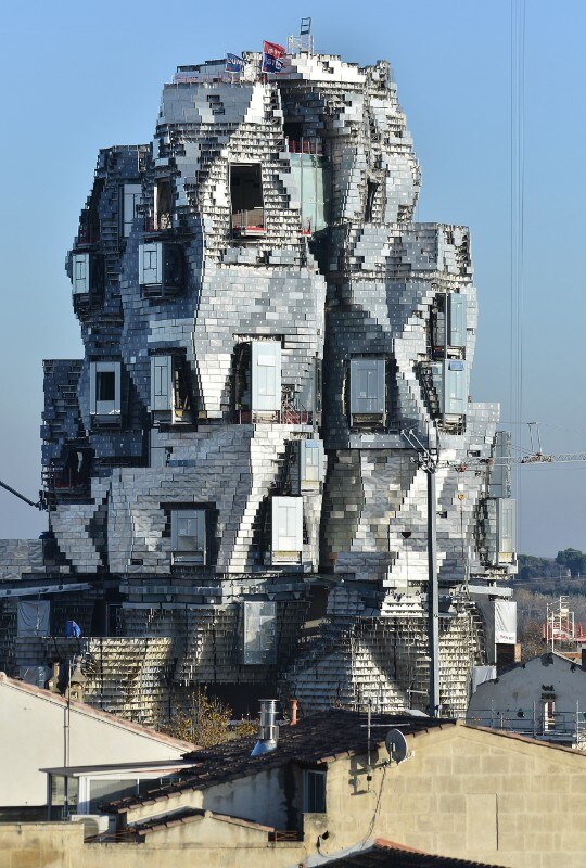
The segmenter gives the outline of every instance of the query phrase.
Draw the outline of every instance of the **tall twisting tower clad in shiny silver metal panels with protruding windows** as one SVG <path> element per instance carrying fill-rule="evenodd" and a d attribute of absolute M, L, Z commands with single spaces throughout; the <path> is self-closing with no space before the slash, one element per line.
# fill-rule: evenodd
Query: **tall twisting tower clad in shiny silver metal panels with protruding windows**
<path fill-rule="evenodd" d="M 46 665 L 75 620 L 86 699 L 146 723 L 195 685 L 237 711 L 277 689 L 426 707 L 413 444 L 440 461 L 441 711 L 514 644 L 468 229 L 413 222 L 388 64 L 298 49 L 269 75 L 253 52 L 179 67 L 152 144 L 100 152 L 67 256 L 85 357 L 44 362 L 50 532 L 42 564 L 8 546 L 2 574 L 20 558 L 48 626 L 18 634 L 5 603 L 0 650 Z"/>

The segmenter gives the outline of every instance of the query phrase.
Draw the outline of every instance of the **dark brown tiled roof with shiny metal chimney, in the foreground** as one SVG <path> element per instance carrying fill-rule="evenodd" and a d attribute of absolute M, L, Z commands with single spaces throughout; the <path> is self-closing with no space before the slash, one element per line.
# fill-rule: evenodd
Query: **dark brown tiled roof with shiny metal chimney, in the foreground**
<path fill-rule="evenodd" d="M 372 741 L 384 743 L 386 726 L 399 728 L 406 736 L 417 736 L 429 729 L 453 726 L 454 720 L 411 717 L 409 715 L 373 716 Z M 149 804 L 188 790 L 205 790 L 249 775 L 257 775 L 269 768 L 278 768 L 294 761 L 301 765 L 328 763 L 337 756 L 364 754 L 367 744 L 367 717 L 358 712 L 332 709 L 310 717 L 302 718 L 295 726 L 283 726 L 276 751 L 263 756 L 251 756 L 256 737 L 234 739 L 214 748 L 192 751 L 186 758 L 193 766 L 186 770 L 184 778 L 167 787 L 160 787 L 141 796 L 112 802 L 110 809 L 125 812 L 133 805 Z M 384 726 L 381 726 L 384 724 Z"/>

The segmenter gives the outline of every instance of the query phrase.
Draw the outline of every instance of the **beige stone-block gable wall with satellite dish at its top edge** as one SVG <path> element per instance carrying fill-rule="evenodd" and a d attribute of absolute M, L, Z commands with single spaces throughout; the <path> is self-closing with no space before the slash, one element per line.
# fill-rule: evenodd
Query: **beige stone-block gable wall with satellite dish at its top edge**
<path fill-rule="evenodd" d="M 387 767 L 378 812 L 383 769 L 368 792 L 359 758 L 330 765 L 324 852 L 373 835 L 510 868 L 583 868 L 586 756 L 463 725 L 408 743 L 413 756 Z"/>

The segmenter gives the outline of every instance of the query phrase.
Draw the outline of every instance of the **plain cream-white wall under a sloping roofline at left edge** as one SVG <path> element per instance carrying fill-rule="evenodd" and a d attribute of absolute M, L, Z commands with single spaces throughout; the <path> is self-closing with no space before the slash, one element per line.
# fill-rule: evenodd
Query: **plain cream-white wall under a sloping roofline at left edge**
<path fill-rule="evenodd" d="M 64 765 L 65 704 L 50 693 L 22 690 L 0 676 L 0 806 L 47 804 L 47 776 L 39 768 Z M 156 733 L 127 729 L 115 717 L 92 716 L 72 703 L 69 765 L 177 760 L 184 746 L 173 746 Z"/>

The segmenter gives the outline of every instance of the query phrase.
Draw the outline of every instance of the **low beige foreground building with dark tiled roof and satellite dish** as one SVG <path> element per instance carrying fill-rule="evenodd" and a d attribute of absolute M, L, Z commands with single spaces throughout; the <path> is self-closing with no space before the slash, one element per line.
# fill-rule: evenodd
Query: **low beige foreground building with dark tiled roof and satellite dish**
<path fill-rule="evenodd" d="M 386 750 L 391 729 L 403 753 Z M 331 710 L 281 727 L 260 755 L 254 738 L 193 751 L 180 780 L 102 807 L 115 831 L 84 842 L 63 824 L 4 826 L 0 845 L 30 840 L 39 855 L 61 835 L 52 868 L 296 868 L 377 838 L 505 868 L 584 865 L 583 753 L 424 717 L 373 718 L 368 732 L 365 714 Z"/>

